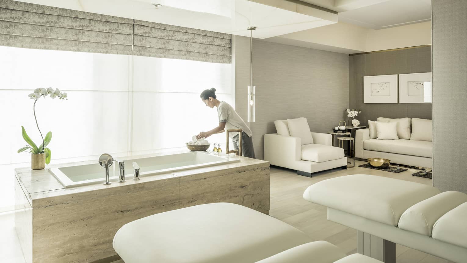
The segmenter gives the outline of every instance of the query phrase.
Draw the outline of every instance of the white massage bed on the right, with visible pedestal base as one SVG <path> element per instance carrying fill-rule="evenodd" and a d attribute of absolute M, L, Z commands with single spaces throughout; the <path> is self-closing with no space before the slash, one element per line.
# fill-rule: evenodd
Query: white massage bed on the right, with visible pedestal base
<path fill-rule="evenodd" d="M 377 244 L 375 236 L 456 263 L 467 263 L 465 193 L 441 192 L 414 182 L 356 174 L 311 185 L 303 197 L 327 206 L 328 220 L 363 232 L 357 235 L 361 254 L 379 260 L 383 259 L 378 256 L 389 254 L 381 246 L 383 242 Z M 395 246 L 392 247 L 390 262 L 395 262 Z"/>

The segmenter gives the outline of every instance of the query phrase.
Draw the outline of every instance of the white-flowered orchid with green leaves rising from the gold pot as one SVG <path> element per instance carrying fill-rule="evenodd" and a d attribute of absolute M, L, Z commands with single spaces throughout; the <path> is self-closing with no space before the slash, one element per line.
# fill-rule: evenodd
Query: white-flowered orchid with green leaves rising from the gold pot
<path fill-rule="evenodd" d="M 50 140 L 52 140 L 52 132 L 48 132 L 45 135 L 45 138 L 42 136 L 41 129 L 39 128 L 39 124 L 37 123 L 37 118 L 35 116 L 35 104 L 37 100 L 39 100 L 41 97 L 45 98 L 47 96 L 50 96 L 50 98 L 52 99 L 59 98 L 60 100 L 68 100 L 67 94 L 66 92 L 61 92 L 58 89 L 54 90 L 52 88 L 47 88 L 47 89 L 37 88 L 32 93 L 30 93 L 28 96 L 29 96 L 29 99 L 34 100 L 33 112 L 34 112 L 35 125 L 37 126 L 37 129 L 39 130 L 39 134 L 41 134 L 42 144 L 39 145 L 39 147 L 37 147 L 37 145 L 31 140 L 31 138 L 29 138 L 24 127 L 21 126 L 21 133 L 23 135 L 23 139 L 28 143 L 28 145 L 19 149 L 18 153 L 23 152 L 23 151 L 28 151 L 31 154 L 45 153 L 45 163 L 49 164 L 50 156 L 52 152 L 50 151 L 49 148 L 46 148 L 46 146 L 50 143 Z"/>

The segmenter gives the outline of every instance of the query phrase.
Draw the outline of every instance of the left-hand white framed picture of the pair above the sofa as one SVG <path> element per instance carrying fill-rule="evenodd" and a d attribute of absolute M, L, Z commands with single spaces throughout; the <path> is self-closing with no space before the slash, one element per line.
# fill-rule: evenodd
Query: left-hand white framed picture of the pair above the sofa
<path fill-rule="evenodd" d="M 397 103 L 397 74 L 363 77 L 363 103 Z"/>

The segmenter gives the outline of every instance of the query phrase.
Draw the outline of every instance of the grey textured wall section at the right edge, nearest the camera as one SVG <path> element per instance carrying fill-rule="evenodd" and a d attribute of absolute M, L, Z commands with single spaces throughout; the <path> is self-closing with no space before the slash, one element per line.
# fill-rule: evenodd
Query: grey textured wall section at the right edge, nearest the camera
<path fill-rule="evenodd" d="M 467 1 L 433 0 L 433 185 L 467 193 Z"/>

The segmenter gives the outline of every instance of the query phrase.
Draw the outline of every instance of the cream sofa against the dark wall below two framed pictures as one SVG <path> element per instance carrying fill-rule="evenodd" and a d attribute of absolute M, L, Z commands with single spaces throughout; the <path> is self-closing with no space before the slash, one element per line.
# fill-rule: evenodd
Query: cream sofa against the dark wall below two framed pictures
<path fill-rule="evenodd" d="M 378 118 L 378 121 L 381 121 L 382 119 L 385 118 Z M 411 120 L 412 129 L 410 129 L 409 132 L 412 132 L 414 129 L 414 120 L 417 119 Z M 415 127 L 415 129 L 417 129 L 417 127 Z M 427 132 L 431 134 L 431 128 Z M 369 128 L 359 129 L 355 132 L 355 157 L 361 159 L 372 157 L 387 158 L 391 160 L 391 163 L 432 168 L 432 142 L 424 140 L 413 140 L 411 139 L 410 135 L 405 138 L 409 137 L 410 139 L 400 138 L 399 140 L 378 140 L 376 138 L 370 138 Z M 427 135 L 427 137 L 431 138 L 431 135 Z"/>

